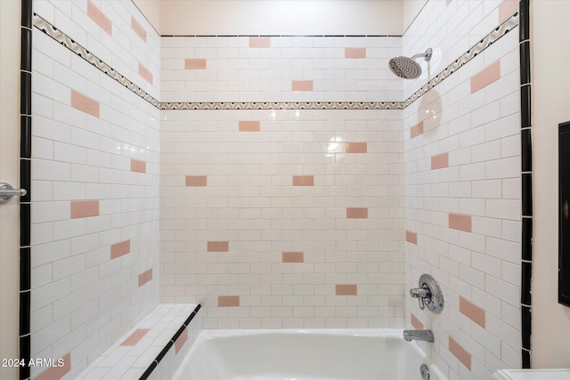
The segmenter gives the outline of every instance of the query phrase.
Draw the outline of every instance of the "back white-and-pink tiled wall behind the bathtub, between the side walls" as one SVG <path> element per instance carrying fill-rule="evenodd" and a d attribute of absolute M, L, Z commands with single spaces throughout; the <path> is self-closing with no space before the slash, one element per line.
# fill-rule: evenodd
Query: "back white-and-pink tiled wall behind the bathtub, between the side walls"
<path fill-rule="evenodd" d="M 162 96 L 399 99 L 400 41 L 165 37 Z M 210 328 L 403 327 L 401 110 L 161 118 L 163 300 L 203 303 Z"/>

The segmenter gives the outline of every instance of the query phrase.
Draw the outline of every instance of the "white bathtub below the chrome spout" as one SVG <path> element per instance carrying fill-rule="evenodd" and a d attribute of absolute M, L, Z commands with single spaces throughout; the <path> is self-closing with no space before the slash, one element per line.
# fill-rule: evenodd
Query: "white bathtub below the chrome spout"
<path fill-rule="evenodd" d="M 203 330 L 173 380 L 445 380 L 401 329 Z"/>

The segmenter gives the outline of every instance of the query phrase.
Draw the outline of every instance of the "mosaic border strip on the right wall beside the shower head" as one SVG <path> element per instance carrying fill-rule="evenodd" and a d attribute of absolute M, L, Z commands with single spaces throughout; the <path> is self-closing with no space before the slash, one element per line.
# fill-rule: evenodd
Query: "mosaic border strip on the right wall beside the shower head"
<path fill-rule="evenodd" d="M 509 19 L 504 21 L 499 27 L 495 28 L 491 33 L 485 36 L 481 41 L 471 47 L 467 53 L 464 53 L 457 60 L 453 61 L 451 65 L 446 67 L 443 71 L 431 79 L 426 85 L 421 86 L 418 91 L 413 93 L 408 99 L 403 101 L 403 108 L 405 109 L 414 101 L 417 101 L 424 93 L 439 85 L 445 78 L 451 76 L 455 71 L 460 69 L 468 61 L 474 59 L 479 53 L 483 52 L 491 44 L 497 42 L 501 36 L 506 35 L 510 30 L 516 28 L 518 25 L 518 12 L 513 14 Z"/>

